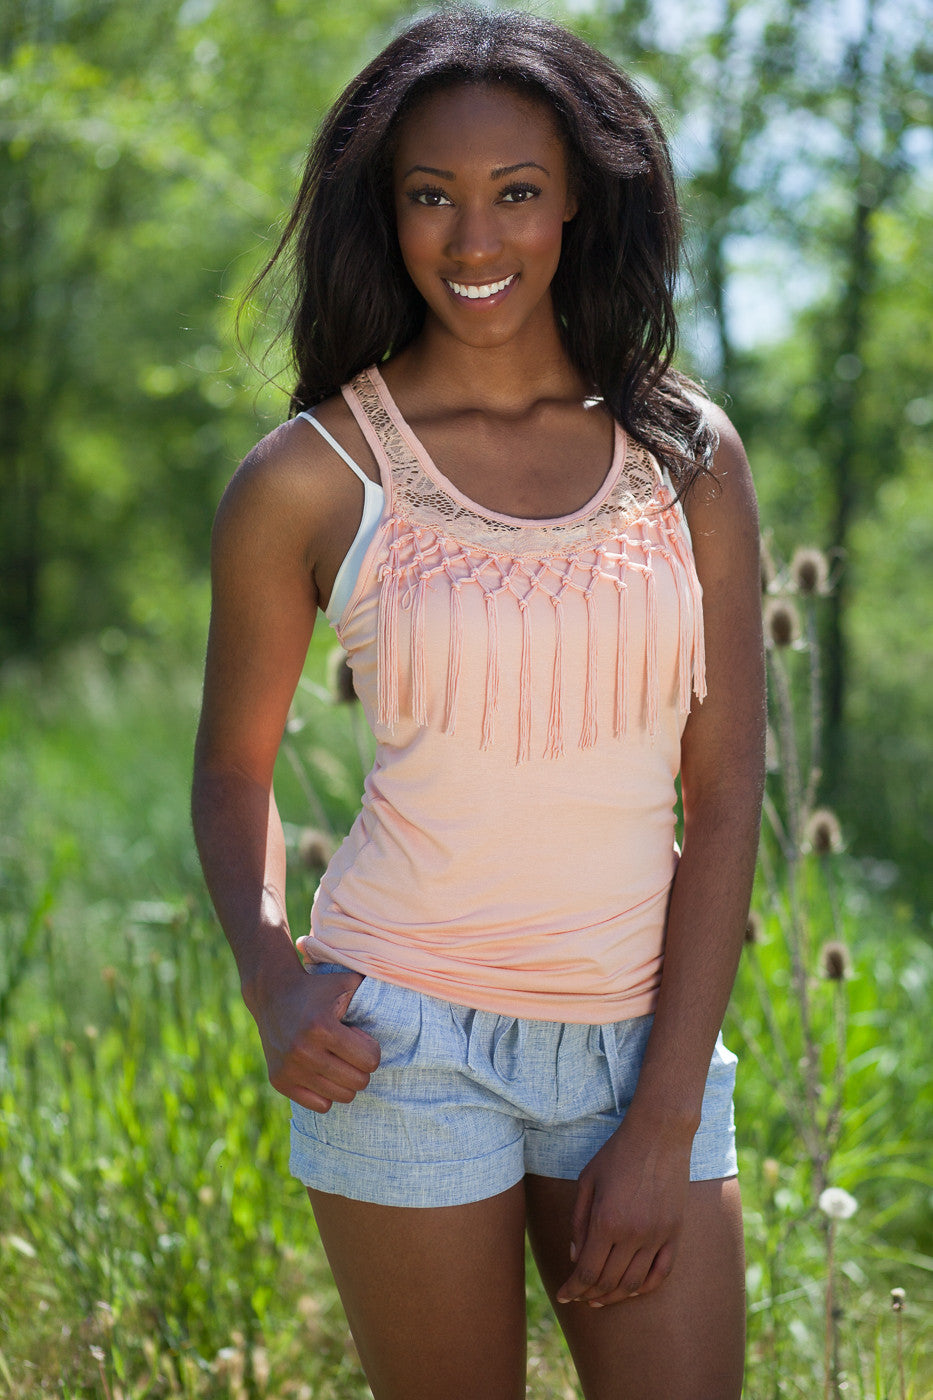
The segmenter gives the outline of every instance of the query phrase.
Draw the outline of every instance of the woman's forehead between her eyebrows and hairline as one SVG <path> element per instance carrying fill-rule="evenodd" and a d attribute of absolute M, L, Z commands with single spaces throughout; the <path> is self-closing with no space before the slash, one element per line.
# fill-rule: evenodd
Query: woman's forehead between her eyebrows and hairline
<path fill-rule="evenodd" d="M 539 97 L 509 87 L 458 83 L 424 97 L 399 123 L 395 168 L 416 162 L 444 169 L 459 165 L 511 165 L 548 154 L 563 155 L 553 112 Z"/>

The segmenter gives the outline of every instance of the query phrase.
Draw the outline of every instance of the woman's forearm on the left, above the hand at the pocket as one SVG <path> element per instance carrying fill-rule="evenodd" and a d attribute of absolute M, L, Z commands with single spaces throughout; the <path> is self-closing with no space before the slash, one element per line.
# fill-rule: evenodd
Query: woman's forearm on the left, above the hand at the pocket
<path fill-rule="evenodd" d="M 286 910 L 286 850 L 275 797 L 240 773 L 196 770 L 192 820 L 205 881 L 237 959 L 247 1005 L 298 963 Z"/>

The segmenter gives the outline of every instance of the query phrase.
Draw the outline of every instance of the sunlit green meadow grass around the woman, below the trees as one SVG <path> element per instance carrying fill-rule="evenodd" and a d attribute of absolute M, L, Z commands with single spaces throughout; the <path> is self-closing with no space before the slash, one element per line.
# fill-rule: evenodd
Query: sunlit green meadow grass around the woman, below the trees
<path fill-rule="evenodd" d="M 277 783 L 291 844 L 345 829 L 368 755 L 359 713 L 321 699 L 315 638 Z M 188 776 L 199 678 L 177 658 L 84 650 L 0 690 L 0 1392 L 14 1397 L 366 1396 L 301 1187 L 287 1105 L 268 1085 L 235 969 L 202 892 Z M 312 783 L 317 809 L 310 811 Z M 304 927 L 314 872 L 293 862 Z M 804 869 L 814 956 L 852 948 L 843 987 L 811 979 L 832 1081 L 845 997 L 842 1133 L 829 1175 L 859 1201 L 835 1240 L 846 1396 L 933 1396 L 933 955 L 862 874 Z M 834 888 L 827 890 L 827 879 Z M 832 895 L 832 897 L 829 897 Z M 775 1088 L 766 1007 L 801 1042 L 780 900 L 765 897 L 727 1039 L 747 1208 L 748 1400 L 813 1396 L 824 1352 L 825 1221 Z M 761 1057 L 763 1068 L 755 1063 Z M 779 1067 L 778 1067 L 779 1068 Z M 827 1102 L 818 1112 L 828 1112 Z M 908 1308 L 891 1312 L 891 1287 Z M 530 1273 L 528 1393 L 577 1390 Z"/>

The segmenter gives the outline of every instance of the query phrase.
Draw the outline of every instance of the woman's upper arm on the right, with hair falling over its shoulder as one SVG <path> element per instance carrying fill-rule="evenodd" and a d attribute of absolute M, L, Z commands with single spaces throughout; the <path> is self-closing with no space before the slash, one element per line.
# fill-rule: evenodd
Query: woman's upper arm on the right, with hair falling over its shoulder
<path fill-rule="evenodd" d="M 761 799 L 765 671 L 758 507 L 741 440 L 726 414 L 706 412 L 719 431 L 714 480 L 686 498 L 696 573 L 703 588 L 706 699 L 684 731 L 684 815 L 706 798 L 754 808 Z"/>

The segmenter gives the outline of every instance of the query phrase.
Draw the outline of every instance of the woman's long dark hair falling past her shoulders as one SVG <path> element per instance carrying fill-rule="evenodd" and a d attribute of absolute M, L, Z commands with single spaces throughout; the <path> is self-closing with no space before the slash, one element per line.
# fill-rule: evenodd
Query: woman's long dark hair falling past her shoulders
<path fill-rule="evenodd" d="M 664 132 L 609 59 L 520 11 L 457 6 L 416 21 L 325 118 L 284 234 L 248 293 L 287 259 L 291 412 L 336 393 L 422 329 L 424 302 L 395 235 L 394 136 L 420 99 L 457 83 L 507 84 L 552 111 L 579 200 L 552 284 L 563 343 L 682 494 L 709 470 L 716 440 L 696 386 L 671 368 L 681 218 Z"/>

